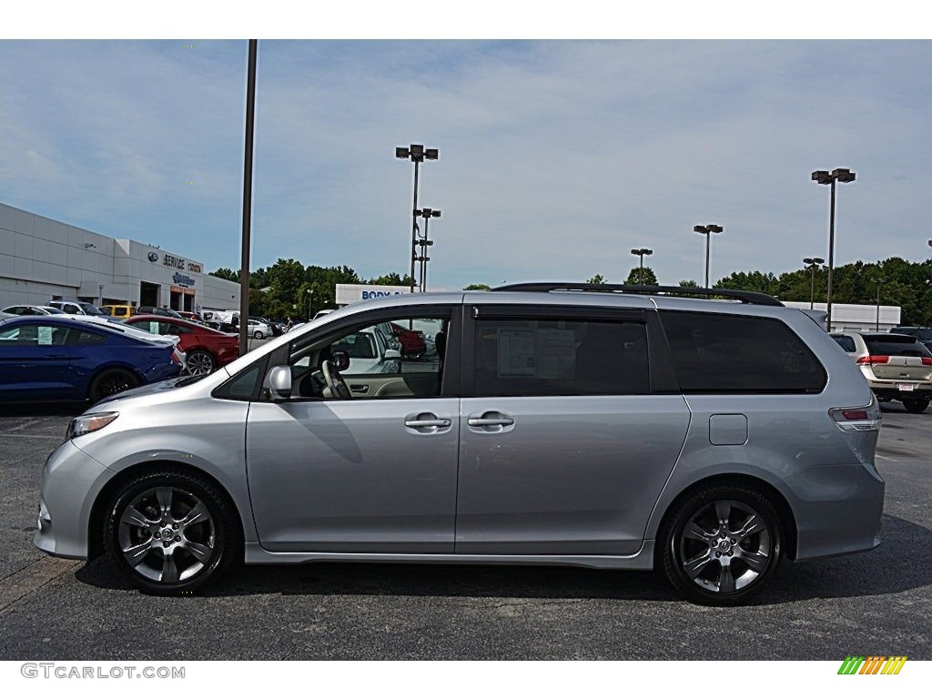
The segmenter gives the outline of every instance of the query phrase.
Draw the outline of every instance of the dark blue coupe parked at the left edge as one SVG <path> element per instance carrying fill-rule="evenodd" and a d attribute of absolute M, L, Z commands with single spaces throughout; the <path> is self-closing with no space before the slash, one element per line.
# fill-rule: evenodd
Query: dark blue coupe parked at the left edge
<path fill-rule="evenodd" d="M 155 337 L 155 336 L 154 336 Z M 174 348 L 114 323 L 0 321 L 0 402 L 85 401 L 177 377 Z"/>

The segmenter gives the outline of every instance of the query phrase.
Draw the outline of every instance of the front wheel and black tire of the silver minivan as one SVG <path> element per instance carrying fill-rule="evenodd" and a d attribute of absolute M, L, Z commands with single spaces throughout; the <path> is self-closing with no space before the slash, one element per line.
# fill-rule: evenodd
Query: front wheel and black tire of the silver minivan
<path fill-rule="evenodd" d="M 119 488 L 106 510 L 103 546 L 134 587 L 153 595 L 190 593 L 242 558 L 240 522 L 226 494 L 171 468 Z"/>

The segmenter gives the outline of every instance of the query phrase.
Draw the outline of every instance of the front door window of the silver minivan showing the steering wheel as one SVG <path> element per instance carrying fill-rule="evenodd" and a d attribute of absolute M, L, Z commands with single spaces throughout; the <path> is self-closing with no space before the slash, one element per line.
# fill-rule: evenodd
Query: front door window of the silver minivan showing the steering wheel
<path fill-rule="evenodd" d="M 295 344 L 292 400 L 437 396 L 446 325 L 445 318 L 392 318 Z"/>

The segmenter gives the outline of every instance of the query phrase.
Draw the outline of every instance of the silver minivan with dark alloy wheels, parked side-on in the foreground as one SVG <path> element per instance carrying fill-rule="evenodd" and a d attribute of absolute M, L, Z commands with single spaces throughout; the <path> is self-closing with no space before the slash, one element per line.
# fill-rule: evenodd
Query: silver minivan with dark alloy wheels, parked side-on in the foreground
<path fill-rule="evenodd" d="M 718 605 L 783 557 L 877 546 L 880 409 L 835 341 L 770 296 L 644 291 L 366 301 L 119 394 L 49 456 L 35 543 L 155 594 L 243 561 L 404 561 L 659 569 Z M 430 323 L 436 351 L 354 370 L 384 322 Z"/>

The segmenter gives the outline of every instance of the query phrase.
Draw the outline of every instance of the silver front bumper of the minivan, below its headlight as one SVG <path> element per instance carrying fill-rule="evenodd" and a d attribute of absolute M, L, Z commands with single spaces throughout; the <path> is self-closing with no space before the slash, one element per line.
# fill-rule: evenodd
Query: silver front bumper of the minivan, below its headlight
<path fill-rule="evenodd" d="M 113 475 L 72 441 L 48 455 L 33 543 L 47 554 L 87 560 L 90 510 Z"/>

